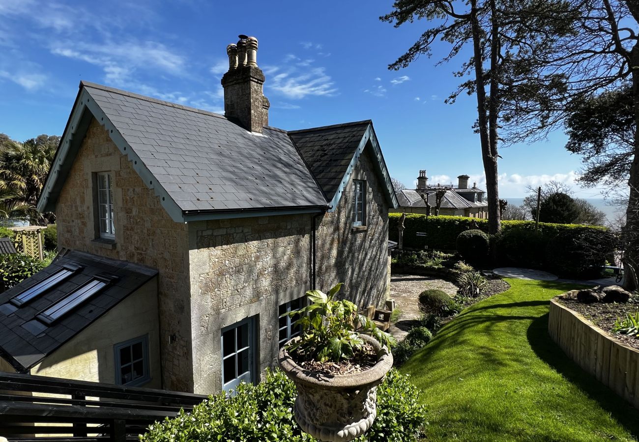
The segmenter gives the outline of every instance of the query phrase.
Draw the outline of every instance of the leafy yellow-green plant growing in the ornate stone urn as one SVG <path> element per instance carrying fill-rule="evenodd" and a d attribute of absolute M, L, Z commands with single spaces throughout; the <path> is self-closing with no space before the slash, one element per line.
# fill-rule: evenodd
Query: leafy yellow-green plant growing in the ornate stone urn
<path fill-rule="evenodd" d="M 342 287 L 340 282 L 328 294 L 320 290 L 309 290 L 306 296 L 311 304 L 282 316 L 298 317 L 295 325 L 300 327 L 300 339 L 290 341 L 286 349 L 290 353 L 302 354 L 316 361 L 339 362 L 349 359 L 364 347 L 359 333 L 371 335 L 380 344 L 390 347 L 393 337 L 381 331 L 373 321 L 357 312 L 357 305 L 348 300 L 335 300 Z M 355 328 L 359 326 L 359 333 Z"/>

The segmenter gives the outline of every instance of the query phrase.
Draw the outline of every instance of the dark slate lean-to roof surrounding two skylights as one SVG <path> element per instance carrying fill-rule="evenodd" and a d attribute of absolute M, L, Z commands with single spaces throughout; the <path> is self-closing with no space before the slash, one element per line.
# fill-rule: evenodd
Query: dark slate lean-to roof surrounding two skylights
<path fill-rule="evenodd" d="M 82 268 L 20 307 L 10 302 L 13 296 L 62 270 L 65 264 Z M 49 325 L 36 318 L 98 273 L 117 279 Z M 47 268 L 0 294 L 0 355 L 19 372 L 26 372 L 157 274 L 157 270 L 139 264 L 84 252 L 59 255 Z"/>

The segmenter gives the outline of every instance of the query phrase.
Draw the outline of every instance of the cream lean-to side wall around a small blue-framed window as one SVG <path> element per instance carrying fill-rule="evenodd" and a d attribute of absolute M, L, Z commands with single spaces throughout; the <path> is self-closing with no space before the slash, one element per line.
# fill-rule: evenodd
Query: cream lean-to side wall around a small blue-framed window
<path fill-rule="evenodd" d="M 156 279 L 49 354 L 31 369 L 31 374 L 112 384 L 115 382 L 113 346 L 143 335 L 149 339 L 151 374 L 151 380 L 143 386 L 161 388 Z"/>

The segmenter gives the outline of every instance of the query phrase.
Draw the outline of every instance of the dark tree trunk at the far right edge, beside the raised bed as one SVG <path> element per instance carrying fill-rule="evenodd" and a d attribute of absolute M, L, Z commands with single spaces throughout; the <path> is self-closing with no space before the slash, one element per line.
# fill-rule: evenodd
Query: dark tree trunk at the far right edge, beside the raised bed
<path fill-rule="evenodd" d="M 633 78 L 633 105 L 635 107 L 635 149 L 628 177 L 629 197 L 624 227 L 624 288 L 636 290 L 636 268 L 639 262 L 639 45 L 631 50 L 631 69 Z"/>

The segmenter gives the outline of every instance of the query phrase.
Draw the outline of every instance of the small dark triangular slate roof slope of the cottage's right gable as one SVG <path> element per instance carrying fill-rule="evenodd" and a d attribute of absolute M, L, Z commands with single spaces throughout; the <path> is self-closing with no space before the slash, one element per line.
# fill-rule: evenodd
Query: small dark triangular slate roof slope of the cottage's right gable
<path fill-rule="evenodd" d="M 291 130 L 289 137 L 307 162 L 328 201 L 332 201 L 371 120 Z"/>

